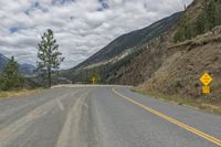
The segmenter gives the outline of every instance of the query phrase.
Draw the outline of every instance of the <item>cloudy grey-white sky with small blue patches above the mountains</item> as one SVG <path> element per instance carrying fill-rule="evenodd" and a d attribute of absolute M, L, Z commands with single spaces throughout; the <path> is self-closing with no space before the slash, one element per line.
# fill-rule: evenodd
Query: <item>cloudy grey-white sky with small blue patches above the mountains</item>
<path fill-rule="evenodd" d="M 117 36 L 183 10 L 192 0 L 1 0 L 0 53 L 35 65 L 38 43 L 54 31 L 61 69 L 86 60 Z"/>

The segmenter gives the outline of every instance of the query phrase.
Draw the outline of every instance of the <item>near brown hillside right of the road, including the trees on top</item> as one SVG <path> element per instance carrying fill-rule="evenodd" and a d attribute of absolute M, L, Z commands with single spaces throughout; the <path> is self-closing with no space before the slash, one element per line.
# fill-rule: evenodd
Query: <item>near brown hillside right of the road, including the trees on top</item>
<path fill-rule="evenodd" d="M 212 18 L 212 19 L 211 19 Z M 146 49 L 127 66 L 110 75 L 117 84 L 137 86 L 141 93 L 202 102 L 200 107 L 221 106 L 221 1 L 194 0 L 177 24 Z M 199 78 L 208 72 L 210 106 Z M 196 101 L 193 101 L 196 99 Z M 207 105 L 206 105 L 207 104 Z M 214 106 L 213 106 L 214 105 Z"/>

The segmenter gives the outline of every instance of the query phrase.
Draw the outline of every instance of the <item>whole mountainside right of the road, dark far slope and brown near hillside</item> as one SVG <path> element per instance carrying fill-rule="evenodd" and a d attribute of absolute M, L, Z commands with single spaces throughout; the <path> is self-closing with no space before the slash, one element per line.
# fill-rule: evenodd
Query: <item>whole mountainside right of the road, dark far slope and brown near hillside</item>
<path fill-rule="evenodd" d="M 200 107 L 219 108 L 220 18 L 221 1 L 193 0 L 183 13 L 119 36 L 62 75 L 74 83 L 90 83 L 96 75 L 99 83 L 135 85 L 141 93 L 181 97 L 192 105 L 202 102 Z M 206 72 L 213 77 L 208 99 L 211 105 L 201 93 L 199 81 Z"/>

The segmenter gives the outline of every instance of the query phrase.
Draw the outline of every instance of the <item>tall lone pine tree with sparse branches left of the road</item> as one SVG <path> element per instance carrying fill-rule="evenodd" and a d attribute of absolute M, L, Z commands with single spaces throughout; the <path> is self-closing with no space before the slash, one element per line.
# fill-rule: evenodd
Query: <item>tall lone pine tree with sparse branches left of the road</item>
<path fill-rule="evenodd" d="M 36 62 L 36 71 L 48 74 L 48 86 L 51 87 L 52 72 L 53 70 L 60 69 L 61 63 L 64 61 L 64 57 L 61 56 L 62 53 L 59 52 L 59 44 L 56 44 L 51 29 L 44 32 L 38 49 L 38 57 L 40 61 Z"/>

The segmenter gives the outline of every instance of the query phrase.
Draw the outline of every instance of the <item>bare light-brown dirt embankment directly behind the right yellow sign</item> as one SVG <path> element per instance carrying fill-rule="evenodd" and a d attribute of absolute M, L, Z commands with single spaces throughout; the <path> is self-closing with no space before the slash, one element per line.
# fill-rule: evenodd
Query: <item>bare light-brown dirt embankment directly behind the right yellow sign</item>
<path fill-rule="evenodd" d="M 202 84 L 199 78 L 208 72 L 213 77 L 209 96 L 220 103 L 221 32 L 215 33 L 209 32 L 168 48 L 161 66 L 140 88 L 159 91 L 168 95 L 201 97 Z"/>

